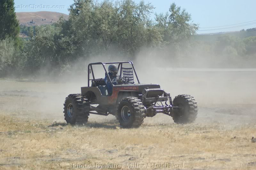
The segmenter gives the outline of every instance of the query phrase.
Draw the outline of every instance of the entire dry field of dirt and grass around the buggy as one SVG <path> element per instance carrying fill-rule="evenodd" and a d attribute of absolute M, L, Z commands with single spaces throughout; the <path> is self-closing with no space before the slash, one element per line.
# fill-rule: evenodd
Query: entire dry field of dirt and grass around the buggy
<path fill-rule="evenodd" d="M 193 95 L 196 121 L 178 125 L 159 114 L 140 128 L 122 129 L 112 115 L 90 115 L 88 124 L 72 127 L 64 121 L 63 103 L 86 85 L 82 77 L 1 80 L 0 169 L 256 168 L 256 72 L 138 73 L 141 82 L 159 83 L 172 97 Z M 67 83 L 72 81 L 77 83 Z"/>

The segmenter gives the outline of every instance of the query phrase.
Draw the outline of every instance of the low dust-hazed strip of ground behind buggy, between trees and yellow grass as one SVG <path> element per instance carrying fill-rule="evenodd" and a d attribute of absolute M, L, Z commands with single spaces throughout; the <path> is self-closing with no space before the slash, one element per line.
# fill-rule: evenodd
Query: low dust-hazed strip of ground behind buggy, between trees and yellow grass
<path fill-rule="evenodd" d="M 160 84 L 171 93 L 191 94 L 198 102 L 195 123 L 220 122 L 227 125 L 253 123 L 256 120 L 255 70 L 173 69 L 147 66 L 135 62 L 142 83 Z M 80 93 L 87 85 L 87 75 L 65 77 L 59 83 L 0 81 L 1 112 L 16 116 L 64 121 L 63 103 L 68 94 Z M 104 77 L 104 73 L 102 74 Z M 52 78 L 54 80 L 54 78 Z M 115 121 L 115 117 L 90 115 L 89 121 Z M 146 118 L 145 124 L 173 123 L 163 114 Z"/>

